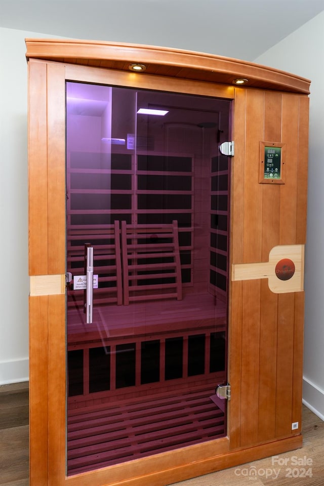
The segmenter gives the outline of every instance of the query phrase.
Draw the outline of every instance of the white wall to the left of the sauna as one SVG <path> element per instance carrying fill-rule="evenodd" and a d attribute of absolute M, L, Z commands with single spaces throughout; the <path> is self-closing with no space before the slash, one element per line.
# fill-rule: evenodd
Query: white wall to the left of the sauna
<path fill-rule="evenodd" d="M 28 379 L 25 37 L 46 35 L 0 28 L 0 385 Z"/>

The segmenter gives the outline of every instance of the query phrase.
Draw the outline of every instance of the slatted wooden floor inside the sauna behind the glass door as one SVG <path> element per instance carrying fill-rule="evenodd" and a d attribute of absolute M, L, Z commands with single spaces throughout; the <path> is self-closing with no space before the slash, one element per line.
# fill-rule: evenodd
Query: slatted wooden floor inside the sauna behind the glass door
<path fill-rule="evenodd" d="M 72 410 L 68 473 L 130 461 L 222 437 L 224 414 L 205 385 L 190 393 L 151 395 L 114 405 Z"/>

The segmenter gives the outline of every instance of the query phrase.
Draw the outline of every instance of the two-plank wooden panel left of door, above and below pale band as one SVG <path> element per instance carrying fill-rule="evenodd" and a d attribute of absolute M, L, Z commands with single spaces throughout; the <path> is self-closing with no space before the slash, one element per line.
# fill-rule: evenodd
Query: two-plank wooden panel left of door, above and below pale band
<path fill-rule="evenodd" d="M 65 69 L 30 62 L 29 78 L 29 274 L 64 274 Z M 65 468 L 65 295 L 30 296 L 29 309 L 30 482 L 48 484 Z"/>

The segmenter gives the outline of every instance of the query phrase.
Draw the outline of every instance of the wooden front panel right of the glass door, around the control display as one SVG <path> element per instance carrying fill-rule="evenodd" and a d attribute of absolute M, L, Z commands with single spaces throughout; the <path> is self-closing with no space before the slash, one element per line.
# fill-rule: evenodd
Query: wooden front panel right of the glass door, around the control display
<path fill-rule="evenodd" d="M 232 263 L 268 261 L 276 245 L 305 243 L 307 120 L 304 96 L 237 90 Z M 260 141 L 286 143 L 285 184 L 259 184 Z M 231 358 L 232 446 L 289 436 L 292 422 L 300 433 L 303 299 L 273 294 L 267 280 L 232 282 L 230 349 L 241 348 Z"/>

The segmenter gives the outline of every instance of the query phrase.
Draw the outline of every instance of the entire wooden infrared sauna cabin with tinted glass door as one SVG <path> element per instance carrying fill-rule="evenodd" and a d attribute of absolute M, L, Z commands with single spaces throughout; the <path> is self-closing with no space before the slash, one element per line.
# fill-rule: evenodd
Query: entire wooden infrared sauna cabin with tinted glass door
<path fill-rule="evenodd" d="M 31 486 L 165 486 L 301 447 L 309 80 L 26 46 Z"/>

